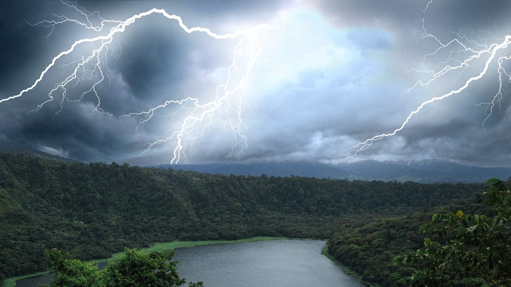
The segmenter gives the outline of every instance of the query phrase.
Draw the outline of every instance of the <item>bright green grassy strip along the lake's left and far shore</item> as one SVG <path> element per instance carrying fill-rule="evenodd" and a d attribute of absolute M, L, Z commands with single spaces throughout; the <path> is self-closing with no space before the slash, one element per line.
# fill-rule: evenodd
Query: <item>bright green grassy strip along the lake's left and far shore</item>
<path fill-rule="evenodd" d="M 165 243 L 155 243 L 154 245 L 152 245 L 148 248 L 143 248 L 142 250 L 144 252 L 167 251 L 167 250 L 174 250 L 176 248 L 194 247 L 194 246 L 208 245 L 208 244 L 245 243 L 245 242 L 269 241 L 269 240 L 281 240 L 281 239 L 291 239 L 291 238 L 261 236 L 261 237 L 250 237 L 250 238 L 245 238 L 245 239 L 240 239 L 240 240 L 173 241 L 173 242 L 165 242 Z M 292 238 L 292 239 L 307 240 L 307 239 L 313 239 L 313 238 Z M 123 254 L 123 252 L 118 252 L 118 253 L 112 254 L 112 256 L 110 256 L 110 258 L 95 259 L 95 260 L 90 260 L 89 262 L 91 262 L 91 263 L 105 262 L 105 261 L 120 257 L 122 254 Z M 39 275 L 47 274 L 49 272 L 50 271 L 42 271 L 42 272 L 27 274 L 27 275 L 23 275 L 23 276 L 7 278 L 6 280 L 4 280 L 4 287 L 14 287 L 16 285 L 17 280 L 34 277 L 34 276 L 39 276 Z"/>

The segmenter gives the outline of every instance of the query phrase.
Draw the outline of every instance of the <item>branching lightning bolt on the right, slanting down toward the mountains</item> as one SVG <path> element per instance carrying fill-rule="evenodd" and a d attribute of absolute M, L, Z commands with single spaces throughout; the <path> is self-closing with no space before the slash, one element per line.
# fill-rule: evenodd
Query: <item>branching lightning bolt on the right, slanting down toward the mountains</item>
<path fill-rule="evenodd" d="M 419 39 L 431 38 L 438 43 L 438 49 L 436 49 L 432 53 L 427 54 L 423 59 L 423 64 L 429 57 L 439 54 L 440 51 L 447 51 L 449 56 L 445 61 L 440 63 L 444 64 L 444 66 L 440 67 L 438 70 L 412 69 L 413 71 L 418 71 L 426 74 L 428 76 L 428 80 L 417 81 L 413 86 L 407 88 L 401 94 L 401 97 L 403 97 L 404 94 L 410 92 L 414 88 L 417 88 L 419 86 L 427 86 L 431 83 L 436 82 L 439 78 L 442 78 L 449 72 L 456 72 L 457 79 L 459 75 L 461 75 L 467 67 L 475 66 L 475 62 L 478 59 L 484 59 L 485 57 L 487 57 L 486 61 L 484 62 L 482 70 L 480 70 L 479 74 L 469 78 L 466 82 L 464 82 L 464 84 L 461 85 L 461 87 L 451 90 L 437 97 L 434 97 L 420 104 L 415 110 L 411 111 L 408 114 L 408 116 L 406 117 L 405 121 L 401 124 L 401 126 L 395 129 L 394 131 L 390 133 L 382 133 L 371 138 L 368 138 L 365 141 L 359 142 L 357 143 L 357 145 L 347 149 L 344 156 L 334 157 L 334 160 L 353 158 L 357 156 L 359 152 L 367 150 L 371 145 L 373 145 L 375 141 L 378 141 L 385 137 L 396 135 L 398 132 L 402 131 L 405 128 L 405 126 L 410 122 L 410 119 L 415 114 L 419 113 L 425 106 L 436 101 L 444 100 L 445 98 L 451 97 L 451 95 L 458 94 L 463 90 L 467 89 L 467 87 L 469 87 L 473 82 L 483 78 L 486 75 L 490 67 L 490 64 L 492 64 L 493 62 L 497 62 L 498 64 L 497 72 L 499 75 L 498 92 L 495 94 L 491 102 L 478 104 L 486 106 L 486 118 L 482 123 L 484 129 L 484 123 L 491 116 L 493 108 L 496 105 L 496 102 L 499 102 L 500 104 L 500 100 L 502 99 L 502 78 L 506 77 L 506 79 L 511 82 L 510 74 L 504 69 L 502 65 L 503 61 L 511 59 L 511 56 L 503 57 L 497 56 L 499 52 L 505 50 L 508 47 L 509 43 L 511 42 L 511 35 L 507 35 L 504 38 L 501 38 L 498 36 L 498 32 L 497 36 L 494 36 L 494 34 L 490 32 L 478 31 L 474 33 L 477 38 L 474 38 L 472 36 L 468 37 L 460 32 L 453 32 L 453 34 L 455 34 L 457 37 L 447 43 L 444 43 L 440 41 L 436 36 L 426 31 L 426 29 L 424 28 L 424 20 L 422 28 L 423 30 L 419 31 L 421 33 L 421 37 Z M 496 41 L 496 43 L 488 44 L 487 40 L 481 37 L 482 33 L 491 35 Z"/>

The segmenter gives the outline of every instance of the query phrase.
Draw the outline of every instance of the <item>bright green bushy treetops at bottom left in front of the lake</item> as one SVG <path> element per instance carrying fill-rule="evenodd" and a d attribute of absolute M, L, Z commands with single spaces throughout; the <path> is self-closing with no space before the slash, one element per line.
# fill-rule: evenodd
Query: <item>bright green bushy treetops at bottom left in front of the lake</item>
<path fill-rule="evenodd" d="M 90 263 L 68 258 L 68 254 L 57 249 L 47 250 L 45 255 L 55 272 L 50 287 L 174 287 L 186 282 L 179 278 L 178 262 L 172 260 L 172 251 L 143 253 L 126 248 L 122 257 L 109 262 L 102 270 Z M 201 287 L 202 282 L 190 282 L 189 286 Z"/>

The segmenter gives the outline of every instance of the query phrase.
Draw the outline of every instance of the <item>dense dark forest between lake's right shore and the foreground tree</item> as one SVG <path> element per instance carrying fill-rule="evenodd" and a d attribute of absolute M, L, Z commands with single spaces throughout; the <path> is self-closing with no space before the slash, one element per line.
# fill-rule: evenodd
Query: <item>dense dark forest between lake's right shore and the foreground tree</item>
<path fill-rule="evenodd" d="M 424 246 L 424 234 L 419 233 L 419 227 L 433 214 L 459 209 L 472 213 L 489 212 L 477 196 L 406 216 L 348 220 L 341 223 L 327 243 L 328 251 L 343 265 L 360 274 L 364 281 L 399 286 L 398 281 L 414 269 L 394 266 L 393 257 Z"/>

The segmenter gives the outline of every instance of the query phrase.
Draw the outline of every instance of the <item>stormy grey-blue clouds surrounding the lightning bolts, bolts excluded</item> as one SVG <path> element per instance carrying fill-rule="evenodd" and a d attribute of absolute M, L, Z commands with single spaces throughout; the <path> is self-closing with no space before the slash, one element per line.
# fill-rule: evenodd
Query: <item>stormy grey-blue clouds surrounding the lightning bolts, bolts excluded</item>
<path fill-rule="evenodd" d="M 475 75 L 482 63 L 456 78 L 447 75 L 430 87 L 420 87 L 398 100 L 401 92 L 419 79 L 422 57 L 436 49 L 430 39 L 417 40 L 425 27 L 448 41 L 461 32 L 476 41 L 479 36 L 502 36 L 511 30 L 511 2 L 496 0 L 433 1 L 92 1 L 78 2 L 89 11 L 111 19 L 125 19 L 153 7 L 166 9 L 189 26 L 203 26 L 220 33 L 250 28 L 262 22 L 277 29 L 261 32 L 263 54 L 254 67 L 243 110 L 248 148 L 241 160 L 324 160 L 343 154 L 359 141 L 399 127 L 408 113 L 423 101 L 459 87 Z M 78 35 L 94 35 L 80 27 L 32 27 L 29 22 L 49 19 L 50 13 L 76 15 L 60 2 L 3 2 L 0 6 L 0 98 L 30 86 L 58 51 Z M 284 12 L 283 12 L 284 11 Z M 97 19 L 96 19 L 97 20 Z M 490 33 L 479 32 L 486 30 Z M 497 31 L 498 30 L 498 31 Z M 492 39 L 493 40 L 493 39 Z M 101 85 L 102 108 L 110 118 L 94 112 L 96 96 L 83 103 L 56 99 L 37 113 L 27 114 L 48 99 L 52 81 L 41 82 L 26 97 L 0 105 L 0 134 L 42 150 L 83 161 L 168 163 L 173 146 L 160 145 L 138 156 L 145 143 L 168 135 L 178 116 L 164 117 L 167 109 L 138 131 L 137 118 L 118 115 L 142 111 L 166 100 L 188 96 L 211 99 L 225 81 L 237 41 L 215 41 L 201 34 L 184 33 L 172 21 L 150 16 L 122 34 L 113 51 L 119 61 L 111 65 L 109 85 Z M 438 68 L 447 54 L 438 54 L 426 68 Z M 62 65 L 64 63 L 58 63 Z M 445 65 L 445 64 L 444 64 Z M 511 140 L 509 100 L 504 99 L 485 122 L 485 106 L 497 92 L 495 65 L 491 75 L 467 91 L 426 107 L 407 128 L 394 137 L 375 142 L 357 159 L 443 158 L 479 165 L 509 165 Z M 50 79 L 61 76 L 52 70 Z M 489 73 L 490 74 L 490 73 Z M 77 91 L 80 86 L 77 86 Z M 69 94 L 78 97 L 79 93 Z M 229 122 L 217 114 L 197 140 L 193 162 L 238 160 L 231 153 Z M 165 133 L 167 131 L 167 134 Z"/>

